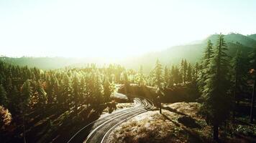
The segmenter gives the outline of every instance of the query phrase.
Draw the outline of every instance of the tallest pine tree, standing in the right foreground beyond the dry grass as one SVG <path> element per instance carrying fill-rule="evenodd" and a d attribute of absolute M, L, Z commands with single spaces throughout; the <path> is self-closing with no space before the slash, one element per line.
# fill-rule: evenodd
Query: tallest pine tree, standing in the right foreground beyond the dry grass
<path fill-rule="evenodd" d="M 229 75 L 227 50 L 224 35 L 220 34 L 213 57 L 210 59 L 209 74 L 204 86 L 204 104 L 201 111 L 206 116 L 206 121 L 214 128 L 213 137 L 219 139 L 219 127 L 229 117 L 231 97 L 229 95 Z"/>

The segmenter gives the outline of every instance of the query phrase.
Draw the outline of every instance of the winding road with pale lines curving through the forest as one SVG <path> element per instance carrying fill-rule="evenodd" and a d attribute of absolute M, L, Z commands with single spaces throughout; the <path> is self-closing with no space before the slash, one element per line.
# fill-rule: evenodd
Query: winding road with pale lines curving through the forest
<path fill-rule="evenodd" d="M 147 110 L 152 109 L 153 107 L 152 102 L 142 97 L 135 97 L 134 103 L 135 107 L 121 109 L 87 124 L 86 127 L 83 127 L 76 132 L 68 143 L 103 143 L 112 129 L 117 127 L 119 124 L 122 124 L 122 122 L 126 122 L 127 119 L 130 119 L 137 114 L 147 112 Z"/>

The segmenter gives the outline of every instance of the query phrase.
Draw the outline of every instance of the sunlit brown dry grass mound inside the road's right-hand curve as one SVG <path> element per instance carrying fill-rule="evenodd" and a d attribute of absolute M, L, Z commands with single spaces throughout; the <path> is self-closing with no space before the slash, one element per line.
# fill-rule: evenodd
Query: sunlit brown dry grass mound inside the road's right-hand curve
<path fill-rule="evenodd" d="M 133 117 L 114 129 L 107 142 L 211 142 L 210 128 L 196 115 L 199 104 L 180 102 L 165 107 L 173 112 L 166 108 L 163 114 L 150 111 Z M 197 126 L 186 127 L 186 122 Z"/>

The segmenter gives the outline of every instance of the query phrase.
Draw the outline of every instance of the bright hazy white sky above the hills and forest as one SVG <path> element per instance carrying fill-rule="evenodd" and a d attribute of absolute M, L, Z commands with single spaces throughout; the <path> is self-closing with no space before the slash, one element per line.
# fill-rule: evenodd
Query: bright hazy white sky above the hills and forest
<path fill-rule="evenodd" d="M 251 0 L 0 0 L 0 55 L 122 57 L 231 31 L 256 33 Z"/>

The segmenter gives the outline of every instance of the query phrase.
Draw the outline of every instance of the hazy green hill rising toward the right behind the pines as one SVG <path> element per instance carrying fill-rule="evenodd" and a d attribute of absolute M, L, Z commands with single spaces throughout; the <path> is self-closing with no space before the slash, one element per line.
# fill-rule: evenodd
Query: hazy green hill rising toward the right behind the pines
<path fill-rule="evenodd" d="M 234 33 L 224 36 L 224 39 L 227 42 L 227 53 L 229 56 L 234 56 L 237 53 L 237 50 L 242 51 L 242 54 L 247 56 L 252 49 L 256 48 L 256 40 L 252 39 L 252 36 L 253 35 L 250 35 L 249 37 Z M 196 61 L 200 61 L 201 57 L 203 56 L 203 51 L 209 39 L 214 43 L 215 46 L 216 40 L 218 39 L 218 34 L 213 34 L 200 42 L 196 42 L 196 44 L 173 46 L 160 52 L 145 54 L 145 56 L 140 56 L 130 60 L 130 63 L 137 65 L 128 65 L 132 65 L 134 67 L 144 65 L 145 69 L 148 70 L 154 66 L 156 59 L 159 59 L 168 66 L 170 64 L 179 64 L 180 59 L 187 59 L 188 61 L 195 63 Z"/>

